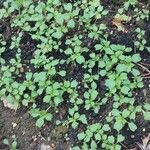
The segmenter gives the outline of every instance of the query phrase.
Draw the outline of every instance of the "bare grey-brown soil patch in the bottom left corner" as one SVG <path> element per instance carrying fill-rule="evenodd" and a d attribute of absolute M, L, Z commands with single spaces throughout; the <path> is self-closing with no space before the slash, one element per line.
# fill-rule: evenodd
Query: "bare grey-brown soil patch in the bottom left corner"
<path fill-rule="evenodd" d="M 3 140 L 7 138 L 12 143 L 13 135 L 17 138 L 17 148 L 20 150 L 41 150 L 42 145 L 55 145 L 57 150 L 67 150 L 70 143 L 64 139 L 66 132 L 68 132 L 67 127 L 54 126 L 54 124 L 47 124 L 39 130 L 25 108 L 21 107 L 14 112 L 0 104 L 1 150 L 10 149 L 9 146 L 3 144 Z"/>

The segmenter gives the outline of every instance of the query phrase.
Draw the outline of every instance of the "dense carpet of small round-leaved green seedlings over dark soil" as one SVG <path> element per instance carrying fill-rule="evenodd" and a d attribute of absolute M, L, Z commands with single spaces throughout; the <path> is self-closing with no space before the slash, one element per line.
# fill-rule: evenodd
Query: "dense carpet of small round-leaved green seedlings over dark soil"
<path fill-rule="evenodd" d="M 124 131 L 136 132 L 139 116 L 150 120 L 150 100 L 137 98 L 150 75 L 141 64 L 150 56 L 149 10 L 138 0 L 5 0 L 1 102 L 15 112 L 25 107 L 35 128 L 65 126 L 66 139 L 73 130 L 73 150 L 126 149 Z M 119 34 L 132 38 L 116 42 Z"/>

